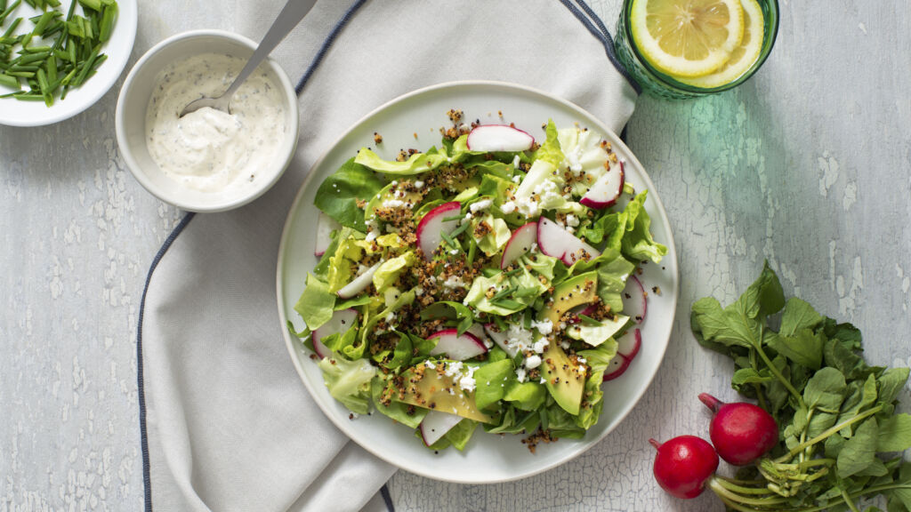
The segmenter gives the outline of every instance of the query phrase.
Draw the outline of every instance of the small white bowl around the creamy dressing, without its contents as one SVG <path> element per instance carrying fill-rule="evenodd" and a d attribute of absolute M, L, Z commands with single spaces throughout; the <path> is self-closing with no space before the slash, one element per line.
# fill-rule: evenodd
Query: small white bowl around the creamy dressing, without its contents
<path fill-rule="evenodd" d="M 170 63 L 188 56 L 220 53 L 248 58 L 256 43 L 244 36 L 222 30 L 194 30 L 184 32 L 160 42 L 139 59 L 129 72 L 117 104 L 115 125 L 120 154 L 138 182 L 154 196 L 183 210 L 199 212 L 225 211 L 238 208 L 260 197 L 281 178 L 297 148 L 298 122 L 297 95 L 288 75 L 273 60 L 262 66 L 269 68 L 272 82 L 284 91 L 285 120 L 288 131 L 276 149 L 271 165 L 261 169 L 258 186 L 241 191 L 202 192 L 179 184 L 165 176 L 158 164 L 148 154 L 146 146 L 146 109 L 156 77 Z"/>

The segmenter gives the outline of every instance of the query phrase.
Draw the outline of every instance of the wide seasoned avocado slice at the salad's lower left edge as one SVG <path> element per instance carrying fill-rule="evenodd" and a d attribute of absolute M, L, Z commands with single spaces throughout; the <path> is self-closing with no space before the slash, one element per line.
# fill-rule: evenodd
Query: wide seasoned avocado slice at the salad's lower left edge
<path fill-rule="evenodd" d="M 424 368 L 423 373 L 421 368 Z M 404 377 L 404 397 L 398 399 L 400 402 L 452 413 L 481 423 L 494 423 L 493 417 L 478 410 L 475 404 L 475 394 L 464 391 L 453 381 L 452 377 L 445 373 L 419 364 L 415 368 L 406 370 L 402 376 Z"/>

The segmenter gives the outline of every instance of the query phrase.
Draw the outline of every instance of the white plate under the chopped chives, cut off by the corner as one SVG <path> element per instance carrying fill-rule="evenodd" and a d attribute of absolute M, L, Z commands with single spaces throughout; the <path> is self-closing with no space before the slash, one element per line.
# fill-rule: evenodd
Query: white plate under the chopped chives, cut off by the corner
<path fill-rule="evenodd" d="M 12 3 L 10 0 L 9 4 L 12 5 Z M 64 15 L 67 14 L 70 3 L 70 0 L 60 2 L 59 8 L 63 10 Z M 129 54 L 133 51 L 133 41 L 136 39 L 137 0 L 118 0 L 117 4 L 117 24 L 114 26 L 114 31 L 111 32 L 111 38 L 107 44 L 101 47 L 101 52 L 107 55 L 107 60 L 101 67 L 98 67 L 96 75 L 88 79 L 82 87 L 69 91 L 67 99 L 61 101 L 57 97 L 50 108 L 46 107 L 42 101 L 19 101 L 10 97 L 0 99 L 0 125 L 12 127 L 50 125 L 76 116 L 94 105 L 107 93 L 114 82 L 117 82 L 123 68 L 127 66 Z M 77 7 L 77 15 L 81 15 L 80 9 L 81 6 Z M 16 33 L 20 33 L 24 30 L 23 27 L 30 29 L 33 24 L 27 18 L 36 14 L 38 11 L 23 2 L 15 13 L 9 16 L 4 26 L 9 26 L 9 23 L 16 17 L 24 17 L 26 19 L 16 29 Z M 10 89 L 0 86 L 0 94 L 9 91 Z"/>

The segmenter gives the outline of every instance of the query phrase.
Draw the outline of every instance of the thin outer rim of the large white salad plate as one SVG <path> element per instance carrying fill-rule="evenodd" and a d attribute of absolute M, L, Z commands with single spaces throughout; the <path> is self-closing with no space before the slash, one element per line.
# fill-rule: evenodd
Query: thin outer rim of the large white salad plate
<path fill-rule="evenodd" d="M 344 138 L 347 138 L 356 128 L 360 127 L 364 122 L 366 122 L 370 118 L 374 117 L 374 115 L 385 110 L 386 108 L 391 108 L 395 104 L 402 102 L 405 99 L 408 99 L 410 97 L 419 96 L 419 95 L 422 95 L 422 94 L 425 94 L 425 93 L 428 93 L 431 91 L 435 91 L 436 89 L 443 89 L 446 87 L 474 87 L 474 86 L 480 86 L 480 87 L 491 86 L 491 87 L 512 88 L 512 89 L 517 89 L 517 90 L 520 90 L 520 91 L 523 91 L 526 93 L 530 93 L 533 95 L 546 97 L 549 101 L 556 102 L 556 103 L 562 105 L 563 107 L 569 108 L 571 110 L 576 110 L 576 111 L 588 116 L 589 118 L 595 120 L 596 121 L 595 128 L 602 130 L 602 132 L 604 134 L 611 135 L 614 138 L 613 143 L 619 144 L 621 146 L 621 148 L 623 148 L 625 150 L 625 152 L 629 155 L 629 158 L 632 160 L 632 163 L 635 166 L 637 166 L 638 169 L 641 169 L 641 178 L 645 181 L 645 183 L 647 185 L 647 189 L 655 190 L 654 183 L 651 181 L 648 173 L 645 172 L 645 168 L 642 167 L 642 164 L 640 163 L 639 159 L 637 159 L 635 157 L 635 155 L 632 153 L 630 148 L 627 147 L 626 144 L 623 143 L 622 140 L 620 140 L 619 136 L 616 133 L 614 133 L 614 131 L 612 129 L 608 128 L 603 122 L 601 122 L 594 115 L 590 114 L 584 108 L 578 107 L 578 105 L 576 105 L 572 102 L 569 102 L 560 97 L 555 97 L 553 95 L 550 95 L 535 87 L 527 87 L 527 86 L 509 83 L 509 82 L 496 81 L 496 80 L 458 80 L 458 81 L 453 81 L 453 82 L 444 82 L 441 84 L 436 84 L 434 86 L 415 89 L 414 91 L 406 93 L 400 97 L 395 97 L 394 99 L 384 103 L 382 106 L 380 106 L 378 108 L 374 108 L 374 110 L 372 110 L 370 113 L 368 113 L 367 115 L 363 116 L 362 118 L 360 118 L 356 122 L 354 122 L 350 128 L 345 130 L 341 136 L 336 138 L 336 140 L 333 142 L 332 145 L 330 145 L 328 148 L 326 148 L 325 151 L 323 151 L 320 158 L 317 159 L 313 163 L 313 165 L 310 169 L 310 172 L 307 175 L 307 178 L 304 179 L 304 181 L 301 185 L 301 188 L 298 189 L 297 195 L 294 198 L 294 202 L 292 203 L 291 209 L 288 210 L 288 215 L 285 218 L 284 227 L 281 230 L 281 242 L 279 244 L 278 264 L 277 264 L 276 271 L 275 271 L 276 301 L 277 301 L 277 307 L 279 310 L 279 321 L 281 323 L 281 325 L 280 325 L 281 333 L 285 339 L 285 346 L 288 349 L 289 356 L 292 359 L 292 363 L 294 364 L 295 370 L 297 370 L 298 376 L 301 378 L 302 383 L 307 388 L 308 393 L 310 393 L 312 395 L 313 401 L 316 402 L 316 404 L 322 410 L 322 414 L 326 415 L 326 417 L 328 417 L 329 420 L 333 422 L 333 425 L 335 425 L 339 430 L 341 430 L 345 435 L 347 435 L 348 438 L 351 439 L 353 442 L 357 443 L 358 445 L 363 447 L 363 449 L 367 450 L 374 456 L 377 456 L 394 466 L 404 469 L 405 471 L 408 471 L 409 473 L 414 473 L 415 475 L 419 475 L 419 476 L 425 476 L 425 477 L 433 479 L 433 480 L 451 482 L 451 483 L 455 483 L 455 484 L 467 484 L 467 485 L 498 484 L 498 483 L 512 482 L 512 481 L 524 479 L 524 478 L 527 478 L 530 476 L 538 475 L 540 473 L 548 471 L 549 469 L 553 469 L 554 467 L 562 466 L 563 464 L 566 464 L 570 460 L 572 460 L 578 456 L 581 456 L 585 452 L 589 451 L 589 449 L 591 449 L 592 446 L 597 445 L 601 440 L 603 440 L 605 437 L 607 437 L 607 435 L 609 435 L 615 428 L 617 428 L 617 426 L 624 419 L 626 419 L 626 417 L 628 415 L 630 415 L 630 411 L 632 411 L 633 407 L 635 407 L 637 404 L 639 404 L 639 402 L 642 398 L 642 395 L 645 394 L 645 392 L 649 389 L 651 383 L 654 381 L 655 375 L 658 373 L 658 370 L 660 369 L 660 363 L 656 364 L 655 367 L 651 370 L 650 374 L 648 374 L 648 379 L 647 379 L 646 384 L 640 388 L 639 393 L 635 394 L 635 396 L 633 397 L 633 400 L 630 401 L 629 405 L 627 405 L 619 413 L 619 415 L 617 415 L 617 417 L 613 419 L 612 423 L 610 425 L 608 425 L 607 428 L 605 428 L 605 430 L 601 433 L 601 435 L 599 435 L 598 437 L 590 437 L 590 438 L 586 437 L 584 439 L 584 443 L 581 445 L 581 448 L 578 449 L 577 451 L 575 451 L 574 453 L 568 454 L 568 456 L 566 456 L 565 458 L 563 458 L 561 460 L 557 460 L 557 461 L 554 461 L 554 462 L 551 462 L 548 464 L 543 464 L 540 467 L 537 467 L 534 470 L 528 471 L 521 475 L 504 476 L 501 478 L 484 479 L 484 480 L 473 479 L 472 476 L 467 476 L 466 478 L 462 478 L 462 479 L 446 478 L 446 477 L 442 477 L 439 475 L 435 475 L 433 473 L 428 473 L 428 472 L 422 471 L 420 469 L 415 468 L 415 466 L 408 466 L 406 464 L 401 464 L 399 461 L 391 460 L 390 458 L 385 456 L 385 454 L 382 453 L 380 450 L 375 449 L 373 445 L 361 443 L 357 439 L 357 436 L 353 434 L 353 430 L 350 426 L 350 422 L 342 421 L 339 418 L 337 418 L 336 415 L 333 413 L 333 411 L 328 409 L 326 404 L 323 404 L 322 401 L 316 397 L 317 396 L 316 393 L 314 392 L 309 381 L 305 377 L 304 370 L 301 365 L 301 361 L 298 359 L 298 357 L 295 354 L 295 347 L 294 347 L 293 343 L 301 343 L 301 341 L 297 337 L 292 337 L 292 334 L 289 333 L 289 331 L 288 331 L 288 317 L 285 314 L 285 307 L 284 307 L 284 302 L 283 302 L 284 284 L 282 282 L 282 271 L 284 269 L 284 263 L 285 263 L 285 261 L 284 261 L 285 246 L 287 245 L 288 238 L 291 233 L 292 218 L 294 216 L 294 213 L 300 207 L 300 202 L 304 196 L 304 191 L 308 187 L 311 186 L 311 182 L 316 175 L 316 173 L 314 172 L 314 169 L 319 169 L 319 167 L 322 165 L 322 161 L 329 156 L 329 154 L 332 152 L 333 148 L 335 148 L 337 145 L 339 145 L 343 141 Z M 653 195 L 650 195 L 650 200 L 654 201 L 655 208 L 657 208 L 657 210 L 660 212 L 662 221 L 665 223 L 665 225 L 668 226 L 669 232 L 670 232 L 670 220 L 668 220 L 667 211 L 664 209 L 664 205 L 660 201 L 658 194 L 653 193 Z M 673 267 L 675 270 L 672 273 L 672 275 L 670 276 L 670 280 L 673 283 L 673 285 L 672 285 L 673 301 L 671 304 L 672 307 L 670 308 L 671 318 L 669 319 L 668 322 L 670 323 L 671 328 L 672 328 L 673 320 L 674 320 L 673 316 L 676 315 L 677 304 L 678 304 L 678 301 L 680 298 L 680 272 L 679 272 L 680 269 L 679 269 L 679 261 L 676 261 L 676 255 L 677 255 L 676 244 L 674 242 L 672 233 L 670 233 L 670 234 L 671 234 L 670 239 L 667 241 L 668 255 L 674 256 Z M 315 263 L 314 263 L 314 265 L 315 265 Z M 665 337 L 665 339 L 662 342 L 663 343 L 660 344 L 659 361 L 663 360 L 664 353 L 666 353 L 666 351 L 667 351 L 668 343 L 670 343 L 670 329 L 668 331 L 668 335 Z M 654 348 L 655 345 L 652 344 L 652 345 L 650 345 L 650 347 Z M 389 420 L 389 421 L 392 421 L 392 420 Z"/>

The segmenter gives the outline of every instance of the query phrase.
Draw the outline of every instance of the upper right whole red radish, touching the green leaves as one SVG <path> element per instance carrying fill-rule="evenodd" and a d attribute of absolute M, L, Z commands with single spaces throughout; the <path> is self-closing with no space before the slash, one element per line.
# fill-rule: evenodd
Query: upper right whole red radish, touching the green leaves
<path fill-rule="evenodd" d="M 706 393 L 699 399 L 715 413 L 709 426 L 711 444 L 732 465 L 750 464 L 778 443 L 778 425 L 762 407 L 744 402 L 725 404 Z"/>

